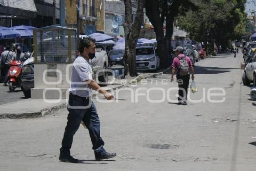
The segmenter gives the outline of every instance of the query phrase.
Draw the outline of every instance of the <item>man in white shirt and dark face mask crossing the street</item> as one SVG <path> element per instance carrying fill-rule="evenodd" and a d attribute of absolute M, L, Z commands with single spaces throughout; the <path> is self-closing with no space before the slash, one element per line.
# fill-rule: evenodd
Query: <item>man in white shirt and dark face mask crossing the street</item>
<path fill-rule="evenodd" d="M 76 57 L 72 66 L 70 94 L 67 105 L 69 114 L 59 156 L 60 161 L 70 163 L 78 163 L 78 160 L 70 155 L 70 148 L 73 136 L 82 121 L 89 131 L 95 159 L 103 160 L 116 156 L 116 153 L 108 153 L 103 148 L 104 141 L 100 136 L 100 121 L 96 107 L 92 102 L 92 89 L 104 94 L 107 100 L 114 98 L 111 93 L 102 89 L 92 79 L 93 72 L 89 60 L 95 57 L 95 40 L 91 38 L 80 40 L 79 52 L 80 54 Z"/>

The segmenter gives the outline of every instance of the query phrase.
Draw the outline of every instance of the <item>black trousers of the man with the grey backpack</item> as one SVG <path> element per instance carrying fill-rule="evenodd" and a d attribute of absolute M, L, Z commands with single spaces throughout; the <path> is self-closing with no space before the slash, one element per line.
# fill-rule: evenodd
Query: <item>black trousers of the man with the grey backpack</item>
<path fill-rule="evenodd" d="M 179 87 L 178 101 L 181 102 L 182 100 L 187 99 L 190 75 L 186 75 L 186 76 L 177 75 L 176 77 L 177 77 L 177 83 Z"/>

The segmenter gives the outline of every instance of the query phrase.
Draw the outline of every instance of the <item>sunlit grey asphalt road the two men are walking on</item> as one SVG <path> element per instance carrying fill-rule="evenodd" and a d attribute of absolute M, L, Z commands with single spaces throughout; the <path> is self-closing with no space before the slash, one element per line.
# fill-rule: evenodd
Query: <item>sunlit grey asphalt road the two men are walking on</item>
<path fill-rule="evenodd" d="M 170 83 L 168 74 L 121 89 L 115 93 L 118 102 L 104 103 L 102 96 L 103 102 L 94 99 L 105 148 L 117 152 L 117 157 L 111 160 L 94 160 L 88 131 L 81 126 L 71 148 L 71 154 L 80 163 L 58 161 L 66 109 L 42 118 L 2 119 L 0 168 L 8 171 L 254 171 L 255 104 L 248 95 L 249 87 L 241 83 L 243 70 L 239 68 L 242 60 L 239 55 L 233 58 L 227 54 L 196 63 L 198 92 L 190 97 L 203 102 L 190 100 L 187 106 L 170 102 L 176 99 L 176 90 L 168 92 L 168 89 L 177 85 Z M 220 95 L 216 88 L 225 94 Z M 209 92 L 210 89 L 214 90 Z M 223 98 L 225 101 L 220 102 Z M 161 99 L 159 103 L 149 102 Z"/>

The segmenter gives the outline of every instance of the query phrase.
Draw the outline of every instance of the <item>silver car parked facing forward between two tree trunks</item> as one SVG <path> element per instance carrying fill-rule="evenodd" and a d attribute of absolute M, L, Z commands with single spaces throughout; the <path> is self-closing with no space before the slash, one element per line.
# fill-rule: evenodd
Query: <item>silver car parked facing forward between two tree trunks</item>
<path fill-rule="evenodd" d="M 156 70 L 160 66 L 157 50 L 152 46 L 136 47 L 136 66 L 138 70 Z"/>

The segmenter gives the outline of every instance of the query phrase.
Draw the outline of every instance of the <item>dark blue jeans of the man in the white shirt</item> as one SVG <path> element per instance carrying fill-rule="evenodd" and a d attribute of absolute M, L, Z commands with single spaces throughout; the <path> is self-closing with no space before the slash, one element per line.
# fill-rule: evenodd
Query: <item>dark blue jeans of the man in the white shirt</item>
<path fill-rule="evenodd" d="M 72 107 L 84 107 L 89 105 L 89 100 L 69 96 L 69 105 Z M 100 120 L 96 111 L 96 107 L 92 102 L 89 108 L 74 109 L 67 107 L 69 114 L 67 116 L 67 126 L 65 128 L 62 147 L 60 152 L 64 155 L 70 155 L 70 148 L 72 146 L 73 136 L 78 130 L 81 121 L 84 122 L 89 131 L 92 141 L 92 149 L 95 155 L 102 156 L 105 153 L 104 141 L 100 136 Z"/>

